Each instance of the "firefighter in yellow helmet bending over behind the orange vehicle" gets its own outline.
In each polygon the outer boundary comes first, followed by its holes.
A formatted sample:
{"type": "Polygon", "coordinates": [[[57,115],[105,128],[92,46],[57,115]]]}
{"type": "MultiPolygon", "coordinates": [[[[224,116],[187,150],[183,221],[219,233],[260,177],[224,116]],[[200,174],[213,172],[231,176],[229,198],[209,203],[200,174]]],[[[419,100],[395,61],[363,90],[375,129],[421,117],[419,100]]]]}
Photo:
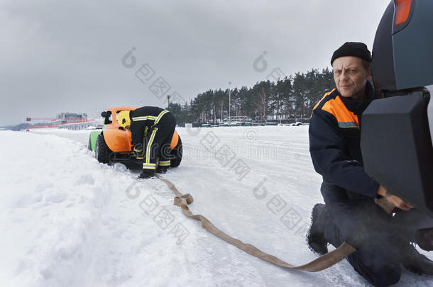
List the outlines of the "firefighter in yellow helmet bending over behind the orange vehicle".
{"type": "Polygon", "coordinates": [[[165,173],[170,167],[170,142],[176,127],[175,116],[163,108],[143,106],[133,111],[121,111],[117,121],[131,130],[133,153],[137,159],[143,159],[143,171],[138,178],[153,177],[155,171],[165,173]]]}

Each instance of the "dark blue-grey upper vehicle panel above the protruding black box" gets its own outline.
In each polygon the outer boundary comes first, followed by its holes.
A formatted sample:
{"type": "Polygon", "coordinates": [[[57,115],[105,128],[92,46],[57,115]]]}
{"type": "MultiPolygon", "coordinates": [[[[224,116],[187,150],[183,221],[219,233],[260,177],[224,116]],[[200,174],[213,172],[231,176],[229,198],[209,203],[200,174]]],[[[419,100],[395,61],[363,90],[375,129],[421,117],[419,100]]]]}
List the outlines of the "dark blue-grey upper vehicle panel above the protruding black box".
{"type": "Polygon", "coordinates": [[[375,88],[395,91],[433,84],[433,1],[411,0],[407,20],[395,25],[396,2],[380,20],[371,71],[375,88]]]}

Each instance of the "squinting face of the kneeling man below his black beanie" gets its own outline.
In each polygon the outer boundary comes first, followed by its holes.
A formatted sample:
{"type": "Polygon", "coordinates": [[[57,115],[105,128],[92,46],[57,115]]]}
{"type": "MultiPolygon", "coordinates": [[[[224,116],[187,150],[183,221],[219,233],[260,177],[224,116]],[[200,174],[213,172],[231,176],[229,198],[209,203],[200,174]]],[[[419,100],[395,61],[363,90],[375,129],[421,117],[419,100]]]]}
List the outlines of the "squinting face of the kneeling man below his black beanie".
{"type": "MultiPolygon", "coordinates": [[[[336,89],[341,96],[349,98],[363,91],[366,82],[371,78],[370,70],[363,67],[359,57],[339,57],[332,63],[336,89]]],[[[363,95],[361,95],[363,96],[363,95]]]]}

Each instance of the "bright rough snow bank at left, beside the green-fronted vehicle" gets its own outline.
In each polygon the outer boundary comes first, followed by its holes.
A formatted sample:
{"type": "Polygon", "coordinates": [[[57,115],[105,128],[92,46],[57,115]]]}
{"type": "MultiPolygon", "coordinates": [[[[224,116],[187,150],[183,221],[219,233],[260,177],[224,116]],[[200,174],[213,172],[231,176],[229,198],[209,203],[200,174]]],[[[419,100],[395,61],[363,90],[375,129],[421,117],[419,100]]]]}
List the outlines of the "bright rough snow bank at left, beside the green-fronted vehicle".
{"type": "Polygon", "coordinates": [[[0,137],[7,151],[0,162],[2,285],[82,285],[114,171],[78,142],[10,131],[0,137]]]}

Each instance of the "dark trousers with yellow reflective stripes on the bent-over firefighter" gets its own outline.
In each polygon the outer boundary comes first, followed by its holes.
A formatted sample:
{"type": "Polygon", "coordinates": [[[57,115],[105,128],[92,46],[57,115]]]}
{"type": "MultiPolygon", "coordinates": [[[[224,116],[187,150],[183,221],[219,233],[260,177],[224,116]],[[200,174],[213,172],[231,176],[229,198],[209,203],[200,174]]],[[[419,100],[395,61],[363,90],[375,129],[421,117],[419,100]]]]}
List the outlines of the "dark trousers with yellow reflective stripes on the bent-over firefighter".
{"type": "Polygon", "coordinates": [[[155,172],[158,157],[160,167],[170,167],[170,142],[175,128],[175,116],[165,113],[159,122],[148,130],[144,140],[143,171],[155,172]]]}

